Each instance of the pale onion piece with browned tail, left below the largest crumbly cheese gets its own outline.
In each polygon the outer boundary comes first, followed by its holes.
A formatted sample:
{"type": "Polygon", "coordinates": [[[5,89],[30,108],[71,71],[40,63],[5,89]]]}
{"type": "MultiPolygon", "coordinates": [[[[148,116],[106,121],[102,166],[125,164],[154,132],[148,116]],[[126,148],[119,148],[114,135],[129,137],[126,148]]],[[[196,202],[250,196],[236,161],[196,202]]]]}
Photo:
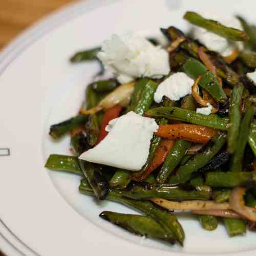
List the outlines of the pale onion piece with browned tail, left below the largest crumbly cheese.
{"type": "Polygon", "coordinates": [[[127,106],[131,101],[131,97],[134,91],[135,82],[124,83],[117,87],[113,92],[106,95],[95,108],[90,110],[80,110],[81,114],[89,115],[95,114],[102,109],[110,109],[115,105],[127,106]]]}

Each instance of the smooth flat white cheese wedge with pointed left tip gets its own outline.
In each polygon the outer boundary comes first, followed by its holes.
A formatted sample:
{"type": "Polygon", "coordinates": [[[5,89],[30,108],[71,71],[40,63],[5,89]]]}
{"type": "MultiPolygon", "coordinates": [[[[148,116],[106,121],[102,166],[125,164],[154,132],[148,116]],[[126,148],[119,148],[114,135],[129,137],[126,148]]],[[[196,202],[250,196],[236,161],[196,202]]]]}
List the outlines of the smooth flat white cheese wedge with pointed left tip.
{"type": "Polygon", "coordinates": [[[79,158],[127,170],[140,170],[150,152],[150,142],[158,130],[155,119],[129,112],[109,122],[109,134],[79,158]]]}

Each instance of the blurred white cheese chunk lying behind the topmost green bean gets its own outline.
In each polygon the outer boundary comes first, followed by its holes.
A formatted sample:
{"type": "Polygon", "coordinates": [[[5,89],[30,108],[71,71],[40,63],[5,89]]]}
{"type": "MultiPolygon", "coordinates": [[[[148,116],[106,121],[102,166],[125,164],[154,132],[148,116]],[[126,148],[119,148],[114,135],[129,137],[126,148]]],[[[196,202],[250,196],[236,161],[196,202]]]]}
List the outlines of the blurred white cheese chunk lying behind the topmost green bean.
{"type": "MultiPolygon", "coordinates": [[[[235,17],[218,17],[215,14],[202,13],[200,14],[204,18],[217,20],[219,23],[226,27],[231,27],[239,30],[243,30],[240,21],[235,17]]],[[[216,51],[222,56],[229,56],[234,49],[243,50],[243,42],[229,41],[228,39],[211,33],[203,28],[193,26],[193,37],[205,45],[209,50],[216,51]]]]}

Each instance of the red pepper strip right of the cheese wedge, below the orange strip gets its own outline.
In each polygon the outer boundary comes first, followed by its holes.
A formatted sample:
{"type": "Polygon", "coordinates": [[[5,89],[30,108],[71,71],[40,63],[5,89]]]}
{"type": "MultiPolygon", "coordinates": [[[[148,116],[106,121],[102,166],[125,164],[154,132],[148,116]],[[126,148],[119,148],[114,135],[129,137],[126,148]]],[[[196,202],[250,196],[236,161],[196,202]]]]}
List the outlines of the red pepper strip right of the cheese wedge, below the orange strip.
{"type": "Polygon", "coordinates": [[[162,139],[160,141],[159,146],[157,147],[155,157],[151,165],[147,168],[146,172],[142,176],[133,177],[132,179],[135,181],[141,181],[146,179],[148,175],[154,172],[154,170],[164,162],[166,156],[169,154],[173,145],[174,145],[174,140],[162,139]]]}

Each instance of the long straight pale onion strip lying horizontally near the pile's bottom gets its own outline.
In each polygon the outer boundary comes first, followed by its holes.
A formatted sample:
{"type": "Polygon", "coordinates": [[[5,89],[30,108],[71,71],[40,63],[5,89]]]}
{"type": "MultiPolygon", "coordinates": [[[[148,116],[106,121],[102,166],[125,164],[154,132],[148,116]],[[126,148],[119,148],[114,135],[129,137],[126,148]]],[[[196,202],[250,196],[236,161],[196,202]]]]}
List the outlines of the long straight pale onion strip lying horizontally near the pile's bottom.
{"type": "Polygon", "coordinates": [[[183,202],[174,202],[162,198],[152,198],[152,202],[168,210],[227,210],[228,203],[216,203],[214,201],[191,200],[183,202]]]}

